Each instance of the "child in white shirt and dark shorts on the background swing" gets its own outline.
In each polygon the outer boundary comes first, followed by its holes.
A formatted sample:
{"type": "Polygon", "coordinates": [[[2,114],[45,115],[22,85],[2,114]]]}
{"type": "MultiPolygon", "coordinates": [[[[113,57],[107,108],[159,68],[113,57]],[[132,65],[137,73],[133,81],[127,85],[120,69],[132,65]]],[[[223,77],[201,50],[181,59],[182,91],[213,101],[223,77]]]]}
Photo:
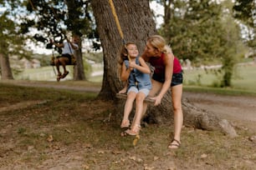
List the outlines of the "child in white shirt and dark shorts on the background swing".
{"type": "Polygon", "coordinates": [[[66,38],[67,42],[63,43],[56,43],[51,40],[51,43],[54,44],[56,47],[63,47],[62,54],[59,57],[56,57],[54,60],[54,64],[57,68],[57,81],[59,82],[60,78],[64,78],[69,74],[69,71],[66,70],[66,65],[71,64],[72,57],[71,55],[74,54],[74,50],[79,49],[79,36],[74,35],[72,36],[72,40],[70,41],[69,38],[66,38]],[[64,69],[64,73],[62,74],[59,70],[59,66],[62,65],[64,69]]]}

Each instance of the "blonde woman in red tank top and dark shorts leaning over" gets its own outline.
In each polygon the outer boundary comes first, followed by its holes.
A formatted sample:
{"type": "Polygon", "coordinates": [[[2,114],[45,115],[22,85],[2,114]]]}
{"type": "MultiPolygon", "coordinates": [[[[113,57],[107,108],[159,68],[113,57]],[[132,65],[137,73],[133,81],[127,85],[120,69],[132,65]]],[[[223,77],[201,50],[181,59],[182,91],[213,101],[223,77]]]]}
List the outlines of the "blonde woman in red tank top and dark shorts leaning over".
{"type": "MultiPolygon", "coordinates": [[[[174,57],[172,54],[171,47],[168,47],[164,38],[158,35],[147,39],[142,57],[154,67],[151,80],[152,89],[149,96],[155,100],[155,106],[161,104],[161,98],[171,87],[174,112],[174,138],[168,148],[179,148],[181,145],[183,123],[182,66],[177,57],[174,57]]],[[[144,102],[144,113],[146,112],[146,107],[147,104],[144,102]]]]}

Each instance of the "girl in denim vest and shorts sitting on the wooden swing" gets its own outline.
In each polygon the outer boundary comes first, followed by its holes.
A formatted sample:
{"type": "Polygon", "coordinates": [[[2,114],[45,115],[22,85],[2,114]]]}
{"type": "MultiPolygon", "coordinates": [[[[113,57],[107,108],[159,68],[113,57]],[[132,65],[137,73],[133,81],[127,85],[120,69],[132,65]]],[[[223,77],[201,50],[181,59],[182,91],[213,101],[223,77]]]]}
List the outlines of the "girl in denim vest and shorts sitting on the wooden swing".
{"type": "MultiPolygon", "coordinates": [[[[124,117],[120,128],[128,128],[130,126],[129,115],[133,102],[136,100],[136,113],[131,129],[125,131],[129,135],[137,135],[140,132],[143,101],[151,90],[150,67],[138,55],[136,44],[132,42],[126,43],[120,52],[120,80],[128,83],[124,117]]],[[[123,91],[125,91],[125,88],[123,91]]]]}

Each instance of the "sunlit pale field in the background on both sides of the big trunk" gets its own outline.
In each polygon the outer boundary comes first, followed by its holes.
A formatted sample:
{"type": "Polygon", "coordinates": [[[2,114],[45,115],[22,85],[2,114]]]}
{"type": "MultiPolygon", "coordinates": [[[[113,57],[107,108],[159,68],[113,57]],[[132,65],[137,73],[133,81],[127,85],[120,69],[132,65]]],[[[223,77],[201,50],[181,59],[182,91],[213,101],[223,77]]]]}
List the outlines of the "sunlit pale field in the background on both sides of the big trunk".
{"type": "MultiPolygon", "coordinates": [[[[72,80],[73,67],[68,66],[69,75],[65,80],[72,80]]],[[[214,70],[207,70],[207,73],[203,69],[184,70],[184,85],[186,87],[215,87],[214,84],[219,83],[221,77],[216,76],[213,73],[214,70]]],[[[100,65],[93,67],[92,72],[103,72],[103,68],[100,65]]],[[[90,76],[87,74],[87,78],[90,82],[101,82],[102,75],[90,76]]],[[[256,64],[243,65],[236,67],[233,80],[232,89],[248,92],[256,92],[256,64]]],[[[24,72],[16,75],[16,80],[38,80],[38,81],[55,81],[55,73],[53,67],[41,67],[26,69],[24,72]]]]}

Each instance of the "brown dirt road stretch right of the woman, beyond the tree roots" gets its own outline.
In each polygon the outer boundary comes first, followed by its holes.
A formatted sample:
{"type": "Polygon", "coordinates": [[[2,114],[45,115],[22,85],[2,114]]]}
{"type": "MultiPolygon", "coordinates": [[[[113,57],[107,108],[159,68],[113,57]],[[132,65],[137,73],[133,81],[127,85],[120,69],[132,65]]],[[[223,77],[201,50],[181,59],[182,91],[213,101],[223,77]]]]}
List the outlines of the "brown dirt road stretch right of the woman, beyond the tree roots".
{"type": "Polygon", "coordinates": [[[223,96],[199,92],[184,92],[183,97],[187,97],[195,106],[227,119],[235,127],[256,131],[256,97],[223,96]]]}

